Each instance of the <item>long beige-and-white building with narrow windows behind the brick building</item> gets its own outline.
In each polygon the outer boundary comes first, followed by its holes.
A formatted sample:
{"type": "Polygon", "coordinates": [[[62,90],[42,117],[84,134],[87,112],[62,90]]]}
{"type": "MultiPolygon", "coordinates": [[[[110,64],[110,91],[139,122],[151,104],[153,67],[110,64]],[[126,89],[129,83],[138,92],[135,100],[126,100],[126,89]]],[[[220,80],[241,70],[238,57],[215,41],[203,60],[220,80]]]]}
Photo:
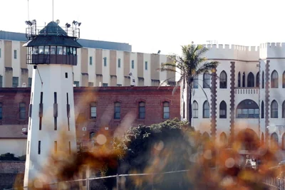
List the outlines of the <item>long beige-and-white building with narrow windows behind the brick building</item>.
{"type": "MultiPolygon", "coordinates": [[[[31,87],[33,72],[31,65],[26,65],[25,42],[25,33],[0,31],[0,88],[22,87],[23,83],[31,87]]],[[[170,85],[175,84],[174,73],[157,71],[167,61],[166,55],[132,52],[128,43],[78,42],[83,48],[78,50],[78,64],[73,68],[76,86],[130,86],[129,73],[136,86],[158,86],[166,78],[172,78],[170,85]]]]}

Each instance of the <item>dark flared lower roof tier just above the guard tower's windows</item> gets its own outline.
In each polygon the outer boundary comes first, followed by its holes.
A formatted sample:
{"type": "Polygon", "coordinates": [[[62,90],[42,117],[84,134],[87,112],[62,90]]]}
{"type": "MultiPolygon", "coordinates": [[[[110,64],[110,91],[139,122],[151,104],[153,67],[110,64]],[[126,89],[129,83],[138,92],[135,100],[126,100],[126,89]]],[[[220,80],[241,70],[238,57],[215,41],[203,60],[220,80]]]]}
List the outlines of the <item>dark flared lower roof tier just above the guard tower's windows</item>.
{"type": "Polygon", "coordinates": [[[24,44],[26,47],[32,46],[70,46],[81,48],[81,44],[68,36],[36,36],[33,40],[24,44]]]}

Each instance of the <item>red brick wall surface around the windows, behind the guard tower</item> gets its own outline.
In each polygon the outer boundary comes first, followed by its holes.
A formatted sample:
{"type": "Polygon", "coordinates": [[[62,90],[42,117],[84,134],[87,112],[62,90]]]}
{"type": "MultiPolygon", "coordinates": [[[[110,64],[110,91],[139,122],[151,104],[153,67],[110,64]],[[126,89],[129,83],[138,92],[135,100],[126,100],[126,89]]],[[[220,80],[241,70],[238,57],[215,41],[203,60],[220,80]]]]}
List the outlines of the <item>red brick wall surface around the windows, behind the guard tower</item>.
{"type": "MultiPolygon", "coordinates": [[[[151,125],[164,121],[163,102],[170,103],[170,119],[180,118],[180,89],[173,87],[101,87],[74,88],[76,127],[78,135],[88,136],[100,127],[115,130],[134,125],[151,125]],[[96,103],[96,119],[90,118],[90,102],[96,103]],[[120,102],[120,119],[114,119],[114,103],[120,102]],[[145,119],[138,119],[139,102],[145,102],[145,119]],[[86,127],[83,132],[82,127],[86,127]]],[[[28,125],[30,88],[1,88],[3,116],[0,125],[28,125]],[[26,103],[26,120],[19,119],[19,103],[26,103]]],[[[1,127],[1,126],[0,126],[1,127]]],[[[80,137],[81,138],[81,137],[80,137]]]]}

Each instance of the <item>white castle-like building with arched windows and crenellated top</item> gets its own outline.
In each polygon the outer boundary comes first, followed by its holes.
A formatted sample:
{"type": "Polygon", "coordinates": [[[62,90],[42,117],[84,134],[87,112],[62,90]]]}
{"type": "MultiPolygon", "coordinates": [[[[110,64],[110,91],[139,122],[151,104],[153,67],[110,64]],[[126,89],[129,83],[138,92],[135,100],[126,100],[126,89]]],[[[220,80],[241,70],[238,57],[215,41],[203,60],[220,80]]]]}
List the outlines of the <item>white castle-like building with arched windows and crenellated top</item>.
{"type": "MultiPolygon", "coordinates": [[[[219,65],[217,77],[204,74],[196,79],[207,97],[195,86],[192,125],[222,142],[250,129],[261,142],[275,139],[285,149],[285,43],[205,46],[209,51],[204,56],[219,65]]],[[[186,90],[182,85],[182,120],[188,119],[186,90]]]]}

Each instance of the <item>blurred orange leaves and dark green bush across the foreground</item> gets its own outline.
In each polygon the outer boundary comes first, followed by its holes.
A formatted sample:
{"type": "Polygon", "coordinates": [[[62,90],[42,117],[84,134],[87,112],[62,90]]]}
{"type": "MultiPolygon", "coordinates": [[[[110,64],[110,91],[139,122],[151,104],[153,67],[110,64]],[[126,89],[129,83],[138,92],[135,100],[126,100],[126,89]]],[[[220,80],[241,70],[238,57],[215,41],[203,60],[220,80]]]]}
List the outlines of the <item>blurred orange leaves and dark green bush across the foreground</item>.
{"type": "MultiPolygon", "coordinates": [[[[266,189],[267,176],[280,174],[276,154],[261,144],[250,130],[242,130],[229,144],[217,143],[177,119],[160,124],[131,127],[123,137],[113,137],[105,130],[96,134],[96,146],[88,152],[51,154],[43,170],[41,189],[53,189],[51,182],[84,179],[89,167],[91,177],[116,174],[151,174],[122,176],[120,189],[266,189]],[[245,155],[248,155],[247,157],[245,155]],[[252,166],[254,160],[257,166],[252,166]],[[166,171],[180,171],[157,174],[166,171]]],[[[63,135],[63,140],[65,139],[63,135]]],[[[38,179],[31,186],[38,185],[38,179]]],[[[116,178],[90,181],[90,189],[115,189],[116,178]]],[[[61,189],[82,189],[85,182],[60,183],[61,189]]],[[[16,183],[20,188],[22,184],[16,183]]],[[[33,189],[33,188],[31,188],[33,189]]]]}

